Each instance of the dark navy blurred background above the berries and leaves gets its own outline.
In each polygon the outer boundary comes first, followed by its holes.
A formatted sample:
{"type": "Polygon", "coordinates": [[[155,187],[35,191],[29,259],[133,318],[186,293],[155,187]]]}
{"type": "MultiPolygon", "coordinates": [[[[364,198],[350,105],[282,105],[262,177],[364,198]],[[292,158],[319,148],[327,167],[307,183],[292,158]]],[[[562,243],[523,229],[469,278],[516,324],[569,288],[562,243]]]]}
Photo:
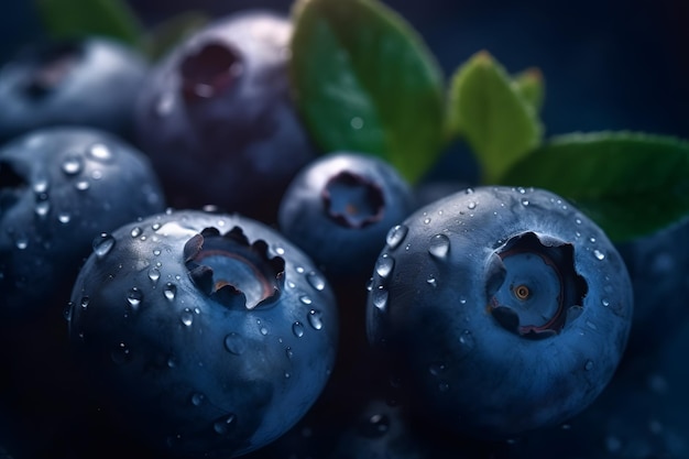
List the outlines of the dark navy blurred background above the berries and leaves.
{"type": "MultiPolygon", "coordinates": [[[[188,9],[287,12],[289,0],[129,0],[146,24],[188,9]]],[[[689,2],[681,0],[387,0],[449,77],[480,50],[546,79],[546,134],[630,129],[689,138],[689,2]]],[[[0,57],[41,35],[32,2],[0,15],[0,57]]],[[[9,11],[8,11],[9,10],[9,11]]],[[[356,25],[353,25],[356,26],[356,25]]]]}

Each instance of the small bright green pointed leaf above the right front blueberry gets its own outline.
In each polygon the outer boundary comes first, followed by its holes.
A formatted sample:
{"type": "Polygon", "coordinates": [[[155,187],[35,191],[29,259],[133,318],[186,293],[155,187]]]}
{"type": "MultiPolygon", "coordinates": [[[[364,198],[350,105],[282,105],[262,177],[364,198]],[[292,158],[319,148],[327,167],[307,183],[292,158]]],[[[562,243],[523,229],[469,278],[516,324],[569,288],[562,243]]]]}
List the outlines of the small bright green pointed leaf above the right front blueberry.
{"type": "Polygon", "coordinates": [[[485,51],[455,73],[449,111],[450,125],[473,150],[485,184],[497,183],[542,139],[536,110],[485,51]]]}

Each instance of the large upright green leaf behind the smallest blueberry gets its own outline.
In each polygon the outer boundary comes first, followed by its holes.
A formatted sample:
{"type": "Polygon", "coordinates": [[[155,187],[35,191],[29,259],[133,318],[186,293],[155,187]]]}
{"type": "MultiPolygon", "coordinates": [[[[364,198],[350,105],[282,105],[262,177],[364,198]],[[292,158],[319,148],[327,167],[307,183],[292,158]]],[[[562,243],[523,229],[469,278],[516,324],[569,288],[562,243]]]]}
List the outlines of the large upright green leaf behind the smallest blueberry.
{"type": "Polygon", "coordinates": [[[444,77],[420,36],[375,0],[298,0],[293,19],[292,85],[317,145],[419,179],[446,141],[444,77]]]}

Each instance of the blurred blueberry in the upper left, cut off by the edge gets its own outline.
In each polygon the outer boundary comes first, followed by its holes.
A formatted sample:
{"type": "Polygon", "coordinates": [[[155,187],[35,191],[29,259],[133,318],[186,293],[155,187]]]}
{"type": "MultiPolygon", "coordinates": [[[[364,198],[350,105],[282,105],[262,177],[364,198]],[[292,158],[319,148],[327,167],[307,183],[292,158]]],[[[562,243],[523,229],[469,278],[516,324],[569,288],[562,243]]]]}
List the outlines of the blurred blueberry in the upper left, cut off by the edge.
{"type": "Polygon", "coordinates": [[[0,142],[54,125],[86,125],[132,139],[136,95],[149,70],[108,39],[42,42],[0,70],[0,142]]]}

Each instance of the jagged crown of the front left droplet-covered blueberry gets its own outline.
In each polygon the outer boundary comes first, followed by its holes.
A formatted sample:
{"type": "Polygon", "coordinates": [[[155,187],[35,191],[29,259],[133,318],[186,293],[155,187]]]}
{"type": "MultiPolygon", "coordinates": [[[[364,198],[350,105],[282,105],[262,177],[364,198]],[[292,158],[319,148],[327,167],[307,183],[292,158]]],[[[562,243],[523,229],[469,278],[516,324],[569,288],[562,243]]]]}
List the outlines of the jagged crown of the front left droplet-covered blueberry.
{"type": "Polygon", "coordinates": [[[194,284],[229,308],[274,304],[283,289],[284,259],[270,258],[261,239],[249,243],[240,227],[204,229],[185,243],[184,260],[194,284]]]}

